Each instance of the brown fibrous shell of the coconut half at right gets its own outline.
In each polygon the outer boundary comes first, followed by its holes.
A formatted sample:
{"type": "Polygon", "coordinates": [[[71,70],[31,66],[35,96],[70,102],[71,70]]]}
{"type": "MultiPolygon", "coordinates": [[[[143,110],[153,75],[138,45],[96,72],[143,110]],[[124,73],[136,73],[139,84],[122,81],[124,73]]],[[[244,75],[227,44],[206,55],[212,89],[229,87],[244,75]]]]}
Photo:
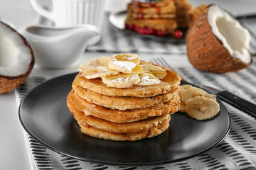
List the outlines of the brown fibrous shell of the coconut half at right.
{"type": "Polygon", "coordinates": [[[248,67],[250,64],[232,57],[214,35],[207,15],[212,5],[207,6],[188,29],[186,47],[189,62],[197,69],[214,73],[234,72],[248,67]]]}

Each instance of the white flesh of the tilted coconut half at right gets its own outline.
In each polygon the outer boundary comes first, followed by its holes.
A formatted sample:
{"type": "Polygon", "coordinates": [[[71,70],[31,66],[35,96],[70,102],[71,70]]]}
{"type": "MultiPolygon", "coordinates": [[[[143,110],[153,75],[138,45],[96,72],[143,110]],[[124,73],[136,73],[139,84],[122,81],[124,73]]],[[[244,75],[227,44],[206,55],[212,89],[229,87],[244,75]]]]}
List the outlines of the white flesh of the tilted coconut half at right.
{"type": "Polygon", "coordinates": [[[210,6],[207,17],[214,35],[223,43],[230,55],[249,64],[251,62],[249,31],[218,6],[210,6]]]}

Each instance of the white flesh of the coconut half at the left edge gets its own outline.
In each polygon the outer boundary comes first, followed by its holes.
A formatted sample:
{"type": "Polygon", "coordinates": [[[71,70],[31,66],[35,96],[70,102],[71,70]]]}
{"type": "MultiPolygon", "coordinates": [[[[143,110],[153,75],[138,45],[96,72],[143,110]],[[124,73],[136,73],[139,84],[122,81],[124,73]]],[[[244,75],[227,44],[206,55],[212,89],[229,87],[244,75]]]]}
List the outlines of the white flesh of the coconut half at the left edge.
{"type": "Polygon", "coordinates": [[[0,23],[0,74],[18,76],[28,70],[31,53],[21,37],[0,23]]]}

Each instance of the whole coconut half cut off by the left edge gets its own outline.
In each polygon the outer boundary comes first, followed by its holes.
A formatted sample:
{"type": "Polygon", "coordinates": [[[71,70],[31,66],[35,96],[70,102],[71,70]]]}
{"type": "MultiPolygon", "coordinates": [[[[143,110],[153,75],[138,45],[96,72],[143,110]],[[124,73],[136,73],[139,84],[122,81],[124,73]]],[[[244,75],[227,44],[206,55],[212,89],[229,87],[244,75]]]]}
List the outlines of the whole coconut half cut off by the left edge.
{"type": "Polygon", "coordinates": [[[0,94],[26,80],[35,62],[31,46],[14,28],[0,21],[0,94]]]}

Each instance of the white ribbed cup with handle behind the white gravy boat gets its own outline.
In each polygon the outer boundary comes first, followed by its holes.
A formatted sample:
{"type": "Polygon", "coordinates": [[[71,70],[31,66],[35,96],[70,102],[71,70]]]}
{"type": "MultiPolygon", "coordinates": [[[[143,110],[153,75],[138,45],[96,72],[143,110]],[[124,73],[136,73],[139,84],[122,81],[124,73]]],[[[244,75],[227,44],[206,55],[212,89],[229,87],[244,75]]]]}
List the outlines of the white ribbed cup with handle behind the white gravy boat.
{"type": "MultiPolygon", "coordinates": [[[[102,21],[105,9],[105,0],[52,0],[52,11],[48,11],[38,0],[30,0],[33,8],[55,24],[55,26],[75,26],[91,24],[99,30],[102,29],[102,21]]],[[[100,35],[92,38],[88,45],[100,41],[100,35]]]]}

